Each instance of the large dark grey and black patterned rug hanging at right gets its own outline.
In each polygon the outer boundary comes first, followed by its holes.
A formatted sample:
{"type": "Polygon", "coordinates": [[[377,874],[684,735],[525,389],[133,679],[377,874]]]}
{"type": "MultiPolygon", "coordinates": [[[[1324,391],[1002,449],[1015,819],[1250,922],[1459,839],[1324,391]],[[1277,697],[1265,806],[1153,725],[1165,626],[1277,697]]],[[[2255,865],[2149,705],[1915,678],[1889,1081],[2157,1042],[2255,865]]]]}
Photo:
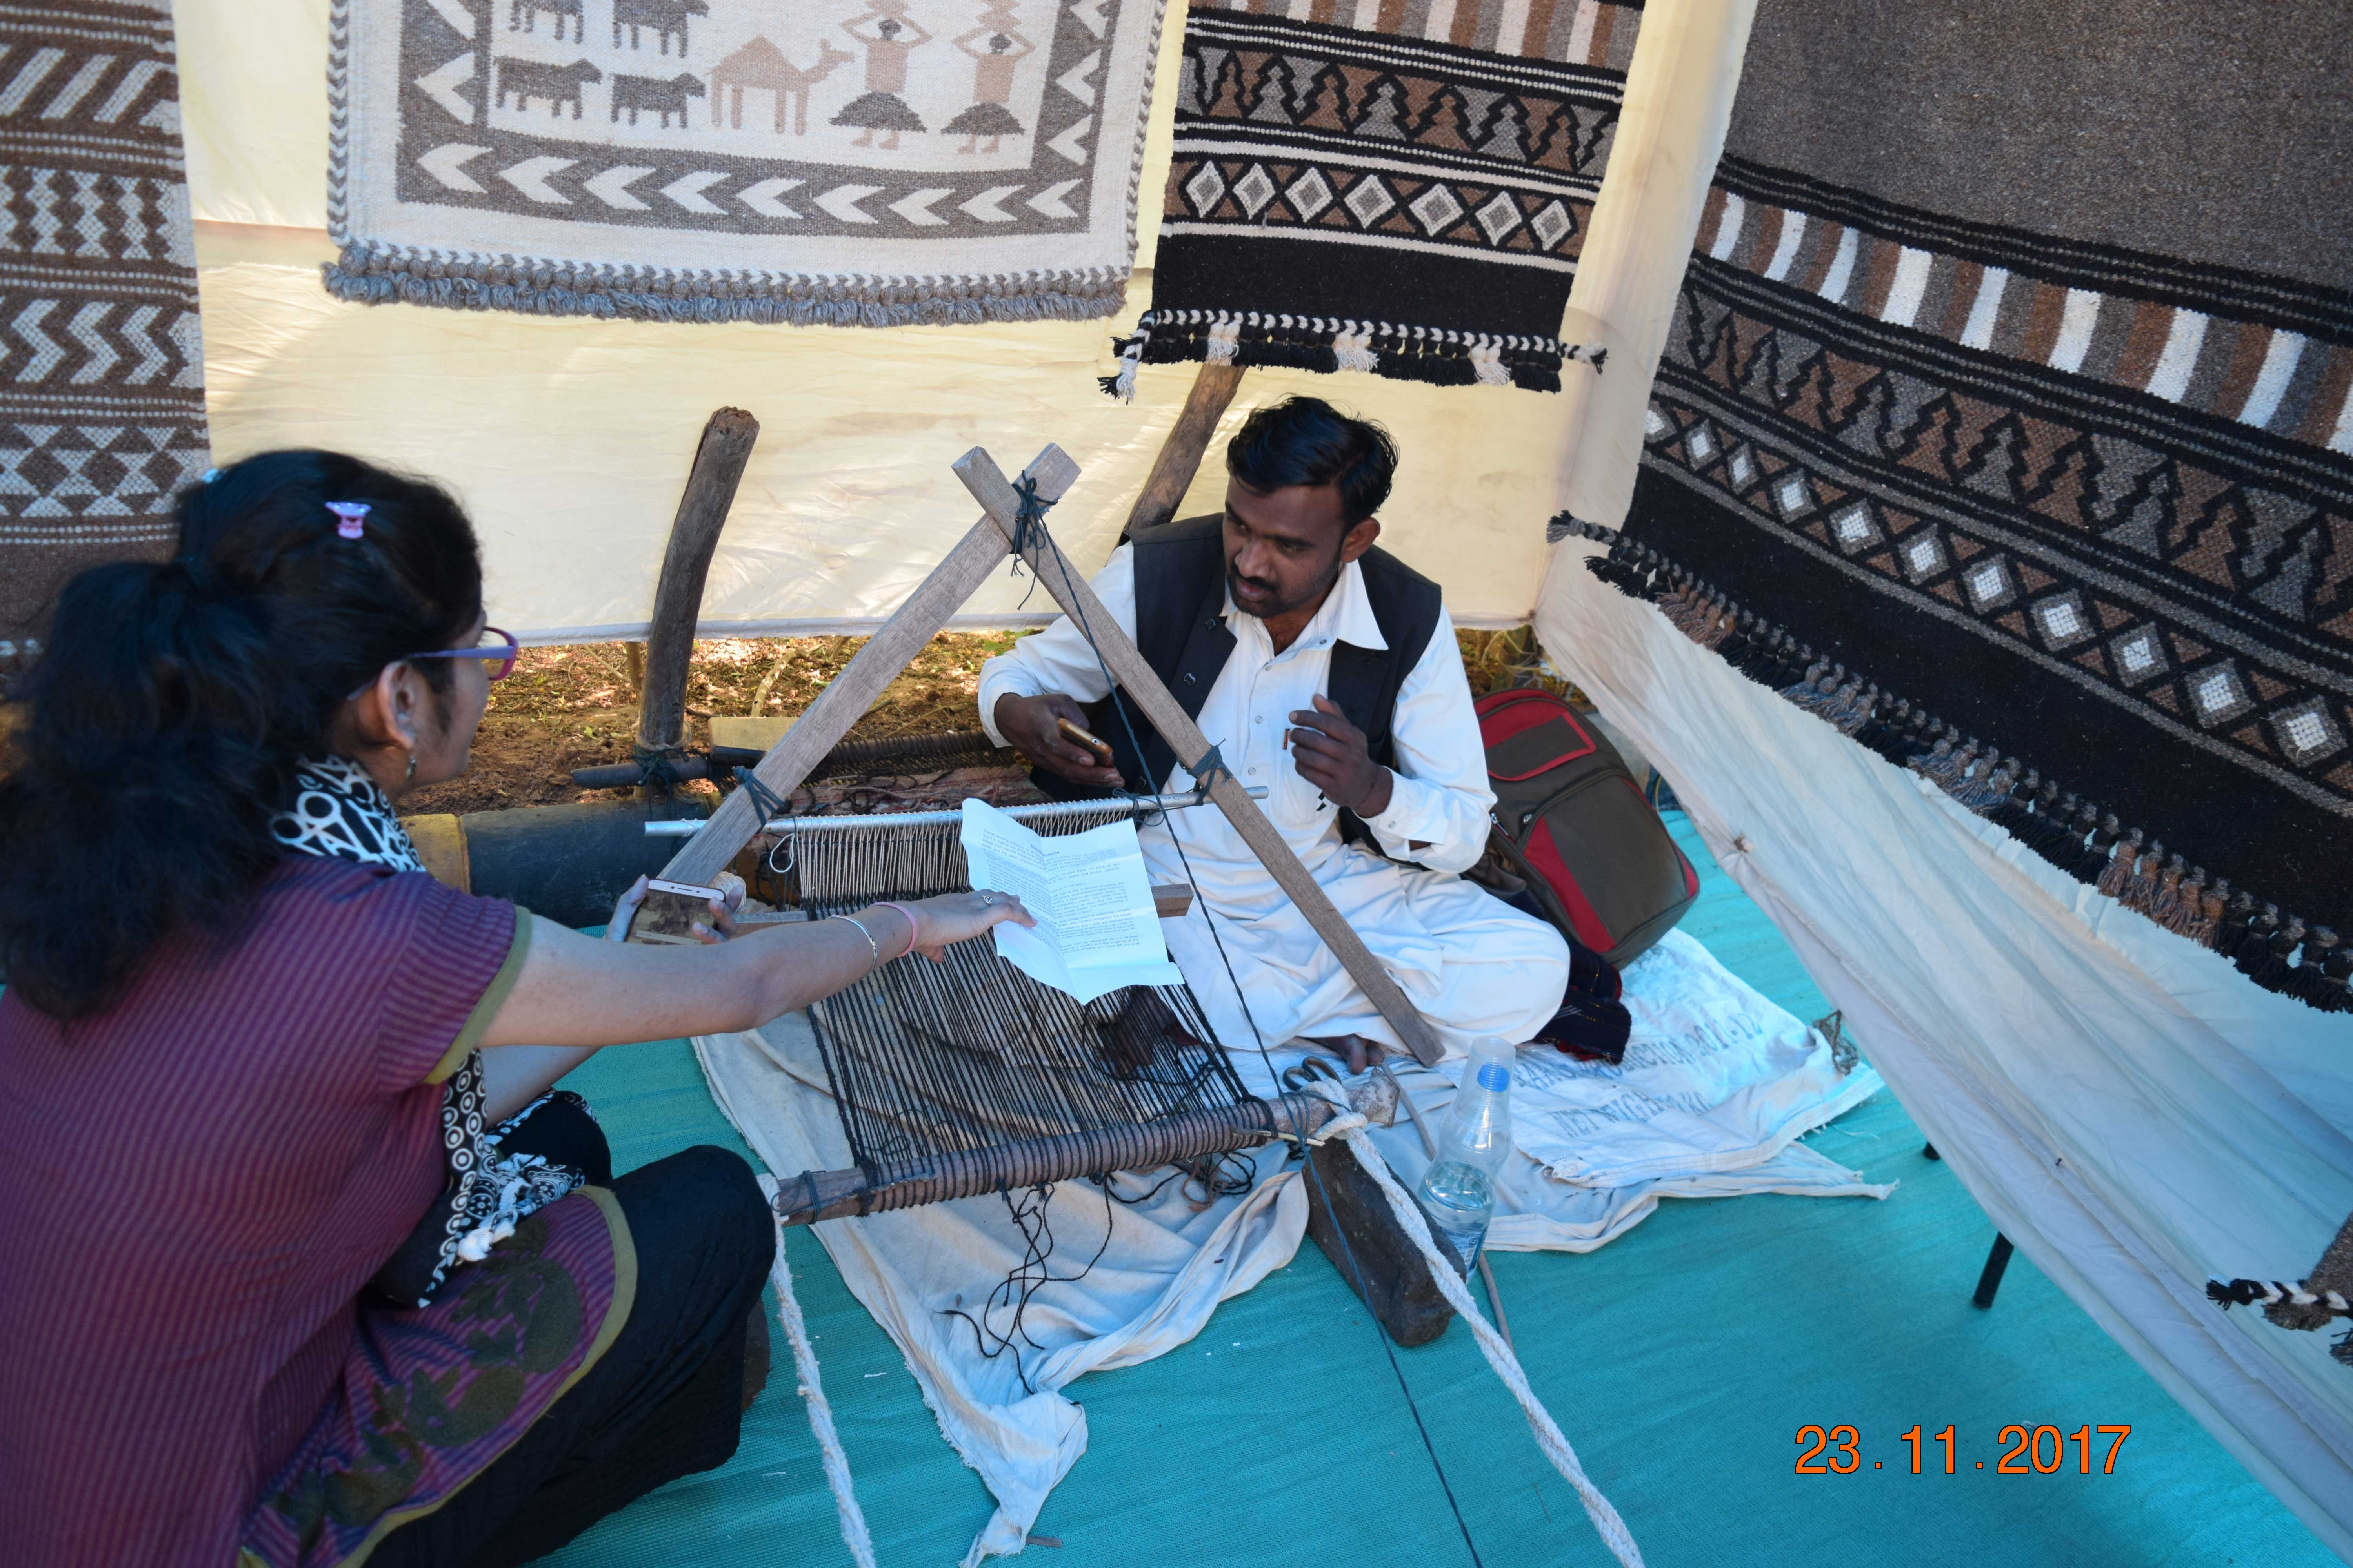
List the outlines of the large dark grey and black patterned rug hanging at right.
{"type": "Polygon", "coordinates": [[[1605,574],[2341,1006],[2353,47],[2233,16],[1760,5],[1605,574]]]}

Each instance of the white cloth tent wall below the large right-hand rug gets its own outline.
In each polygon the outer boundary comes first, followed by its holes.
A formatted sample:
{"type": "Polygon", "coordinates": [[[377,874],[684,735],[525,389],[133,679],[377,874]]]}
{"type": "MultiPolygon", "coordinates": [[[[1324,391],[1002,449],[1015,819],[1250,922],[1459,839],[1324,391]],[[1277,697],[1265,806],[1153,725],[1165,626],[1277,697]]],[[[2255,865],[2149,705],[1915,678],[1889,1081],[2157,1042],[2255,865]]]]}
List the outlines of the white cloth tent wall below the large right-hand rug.
{"type": "Polygon", "coordinates": [[[2353,1368],[2221,1312],[2353,1211],[2344,1018],[2024,851],[1558,552],[1537,630],[1675,785],[1951,1168],[2334,1552],[2353,1368]]]}

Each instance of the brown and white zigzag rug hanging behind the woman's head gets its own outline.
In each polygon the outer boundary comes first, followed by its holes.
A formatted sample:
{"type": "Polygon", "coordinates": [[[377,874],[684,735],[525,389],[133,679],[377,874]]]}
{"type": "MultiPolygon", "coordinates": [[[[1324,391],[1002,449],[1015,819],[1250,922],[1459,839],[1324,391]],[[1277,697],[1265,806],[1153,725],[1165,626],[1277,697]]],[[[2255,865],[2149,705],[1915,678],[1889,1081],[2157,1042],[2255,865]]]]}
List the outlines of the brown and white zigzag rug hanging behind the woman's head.
{"type": "Polygon", "coordinates": [[[205,473],[167,0],[0,7],[0,677],[56,590],[172,550],[205,473]]]}

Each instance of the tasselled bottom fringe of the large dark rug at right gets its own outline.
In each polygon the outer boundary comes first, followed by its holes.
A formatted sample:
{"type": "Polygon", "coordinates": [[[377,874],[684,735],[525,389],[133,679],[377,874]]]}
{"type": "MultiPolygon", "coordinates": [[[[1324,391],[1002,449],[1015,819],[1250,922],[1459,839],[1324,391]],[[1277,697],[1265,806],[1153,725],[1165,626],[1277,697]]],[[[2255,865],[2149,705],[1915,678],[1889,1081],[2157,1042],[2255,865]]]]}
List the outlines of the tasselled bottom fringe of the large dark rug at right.
{"type": "Polygon", "coordinates": [[[1927,708],[1880,691],[1878,682],[1866,682],[1847,665],[1819,658],[1812,644],[1741,609],[1659,550],[1560,512],[1546,524],[1546,543],[1565,538],[1607,543],[1605,555],[1586,557],[1586,571],[1595,578],[1631,599],[1657,604],[1678,632],[1744,677],[1774,689],[1889,764],[1932,780],[2078,882],[2224,954],[2264,990],[2322,1013],[2353,1013],[2353,943],[2344,943],[2329,926],[2306,926],[2301,917],[2280,914],[2278,905],[2259,903],[2245,889],[2231,893],[2226,877],[2209,882],[2205,867],[2167,856],[2160,842],[2139,827],[2127,830],[2113,811],[2099,811],[2057,778],[2045,780],[2019,757],[2002,757],[1998,748],[1965,736],[1927,708]]]}

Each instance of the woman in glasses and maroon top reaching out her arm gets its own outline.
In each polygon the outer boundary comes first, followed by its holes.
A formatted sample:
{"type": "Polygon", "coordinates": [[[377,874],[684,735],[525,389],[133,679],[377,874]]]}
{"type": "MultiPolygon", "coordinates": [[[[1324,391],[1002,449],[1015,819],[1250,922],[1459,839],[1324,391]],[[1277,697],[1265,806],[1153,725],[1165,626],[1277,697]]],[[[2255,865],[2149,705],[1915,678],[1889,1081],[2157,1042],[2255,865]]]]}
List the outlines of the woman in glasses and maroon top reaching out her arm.
{"type": "Polygon", "coordinates": [[[275,451],[179,527],[0,724],[5,1556],[529,1561],[734,1453],[774,1253],[736,1154],[614,1178],[555,1079],[1028,917],[642,947],[445,889],[395,804],[515,661],[466,515],[275,451]]]}

